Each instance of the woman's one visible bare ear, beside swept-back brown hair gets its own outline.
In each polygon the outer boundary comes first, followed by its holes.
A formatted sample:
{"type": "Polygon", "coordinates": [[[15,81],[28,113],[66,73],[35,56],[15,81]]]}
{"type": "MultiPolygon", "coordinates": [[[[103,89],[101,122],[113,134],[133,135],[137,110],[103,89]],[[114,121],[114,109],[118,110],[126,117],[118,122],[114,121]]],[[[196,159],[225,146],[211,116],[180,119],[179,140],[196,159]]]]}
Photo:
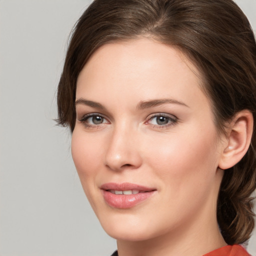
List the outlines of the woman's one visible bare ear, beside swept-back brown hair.
{"type": "Polygon", "coordinates": [[[228,124],[228,132],[218,164],[220,169],[228,169],[241,160],[249,148],[252,130],[253,116],[249,110],[235,114],[228,124]]]}

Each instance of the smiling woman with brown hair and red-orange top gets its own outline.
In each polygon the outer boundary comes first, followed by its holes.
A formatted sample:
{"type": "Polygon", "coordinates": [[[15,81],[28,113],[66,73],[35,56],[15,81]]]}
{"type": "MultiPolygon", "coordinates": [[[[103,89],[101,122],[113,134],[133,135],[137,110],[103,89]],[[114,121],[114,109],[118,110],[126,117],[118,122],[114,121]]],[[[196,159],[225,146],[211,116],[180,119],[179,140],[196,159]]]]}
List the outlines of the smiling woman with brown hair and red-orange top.
{"type": "Polygon", "coordinates": [[[248,255],[255,59],[231,0],[94,0],[82,14],[58,122],[119,256],[248,255]]]}

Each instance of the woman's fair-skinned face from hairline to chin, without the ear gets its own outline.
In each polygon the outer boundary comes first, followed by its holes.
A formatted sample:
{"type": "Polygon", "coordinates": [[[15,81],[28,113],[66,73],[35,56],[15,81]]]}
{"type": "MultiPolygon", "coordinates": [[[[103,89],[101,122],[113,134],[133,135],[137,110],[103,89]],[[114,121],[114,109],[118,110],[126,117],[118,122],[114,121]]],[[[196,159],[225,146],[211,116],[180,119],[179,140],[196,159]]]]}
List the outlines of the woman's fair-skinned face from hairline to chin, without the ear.
{"type": "Polygon", "coordinates": [[[101,46],[76,89],[72,157],[105,231],[145,240],[215,219],[222,172],[196,67],[149,39],[101,46]]]}

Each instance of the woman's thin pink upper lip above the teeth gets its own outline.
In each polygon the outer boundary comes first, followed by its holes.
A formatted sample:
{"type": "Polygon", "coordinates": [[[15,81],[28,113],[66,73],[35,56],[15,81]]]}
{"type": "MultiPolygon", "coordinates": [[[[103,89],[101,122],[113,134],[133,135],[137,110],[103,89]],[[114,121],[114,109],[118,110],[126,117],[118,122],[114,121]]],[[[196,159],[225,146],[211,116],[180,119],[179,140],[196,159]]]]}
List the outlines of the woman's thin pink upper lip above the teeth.
{"type": "Polygon", "coordinates": [[[100,186],[100,189],[103,190],[119,190],[119,191],[125,191],[125,190],[140,190],[140,191],[152,191],[156,190],[155,188],[152,187],[146,187],[143,185],[138,185],[138,184],[133,184],[129,182],[124,182],[124,183],[105,183],[100,186]]]}

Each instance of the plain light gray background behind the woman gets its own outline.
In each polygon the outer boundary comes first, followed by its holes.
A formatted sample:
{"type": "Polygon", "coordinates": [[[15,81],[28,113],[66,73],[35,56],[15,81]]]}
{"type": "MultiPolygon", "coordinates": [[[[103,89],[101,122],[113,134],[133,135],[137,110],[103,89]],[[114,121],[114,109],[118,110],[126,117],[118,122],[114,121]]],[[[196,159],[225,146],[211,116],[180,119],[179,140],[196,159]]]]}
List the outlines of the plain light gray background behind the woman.
{"type": "MultiPolygon", "coordinates": [[[[56,127],[68,33],[88,0],[0,0],[0,256],[110,255],[56,127]]],[[[237,0],[256,29],[256,0],[237,0]]],[[[256,255],[256,234],[249,252],[256,255]]]]}

